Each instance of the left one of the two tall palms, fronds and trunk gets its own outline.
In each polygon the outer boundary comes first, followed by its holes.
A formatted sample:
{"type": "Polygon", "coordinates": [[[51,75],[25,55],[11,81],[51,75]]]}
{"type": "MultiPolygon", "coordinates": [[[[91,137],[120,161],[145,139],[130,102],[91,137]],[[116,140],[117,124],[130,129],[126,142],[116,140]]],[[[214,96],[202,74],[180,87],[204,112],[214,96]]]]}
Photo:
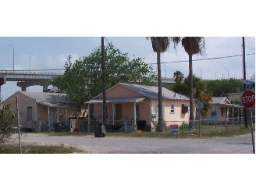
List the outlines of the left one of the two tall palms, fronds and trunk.
{"type": "MultiPolygon", "coordinates": [[[[148,39],[148,37],[147,37],[148,39]]],[[[162,75],[161,75],[161,53],[165,52],[169,47],[170,41],[176,44],[180,42],[180,37],[150,37],[153,51],[157,54],[158,63],[158,131],[164,130],[163,116],[162,116],[162,75]]]]}

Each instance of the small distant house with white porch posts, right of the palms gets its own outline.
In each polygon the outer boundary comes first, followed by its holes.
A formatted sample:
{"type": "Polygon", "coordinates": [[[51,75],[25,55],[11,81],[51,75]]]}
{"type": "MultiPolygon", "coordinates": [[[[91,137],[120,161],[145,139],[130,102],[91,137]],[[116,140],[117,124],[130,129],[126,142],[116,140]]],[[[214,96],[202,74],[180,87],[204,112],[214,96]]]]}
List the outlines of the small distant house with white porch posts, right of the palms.
{"type": "MultiPolygon", "coordinates": [[[[208,111],[208,116],[201,116],[202,123],[220,123],[227,121],[233,122],[233,120],[235,119],[233,115],[234,108],[239,109],[243,108],[243,106],[231,104],[229,99],[226,97],[212,97],[212,109],[208,111]],[[229,116],[232,116],[233,119],[229,119],[229,116]]],[[[240,110],[240,112],[242,112],[242,110],[240,110]]],[[[240,112],[238,112],[238,119],[242,116],[240,115],[240,112]]]]}

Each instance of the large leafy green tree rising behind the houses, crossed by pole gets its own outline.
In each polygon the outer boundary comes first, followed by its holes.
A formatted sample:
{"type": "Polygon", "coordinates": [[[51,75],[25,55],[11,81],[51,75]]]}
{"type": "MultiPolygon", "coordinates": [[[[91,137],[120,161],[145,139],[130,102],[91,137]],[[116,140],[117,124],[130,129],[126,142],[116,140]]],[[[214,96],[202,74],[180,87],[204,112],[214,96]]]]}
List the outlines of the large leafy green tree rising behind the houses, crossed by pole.
{"type": "MultiPolygon", "coordinates": [[[[105,87],[122,83],[155,85],[156,75],[152,66],[141,58],[130,59],[112,43],[105,46],[105,87]]],[[[53,80],[62,87],[70,101],[82,104],[102,92],[101,46],[87,57],[76,60],[66,70],[62,79],[53,80]]]]}

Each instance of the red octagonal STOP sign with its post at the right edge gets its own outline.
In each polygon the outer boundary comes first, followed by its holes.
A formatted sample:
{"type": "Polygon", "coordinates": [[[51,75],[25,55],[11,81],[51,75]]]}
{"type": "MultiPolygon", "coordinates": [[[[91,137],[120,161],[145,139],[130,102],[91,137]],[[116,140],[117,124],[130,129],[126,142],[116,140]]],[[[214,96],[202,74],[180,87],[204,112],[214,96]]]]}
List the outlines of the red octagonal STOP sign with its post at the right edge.
{"type": "Polygon", "coordinates": [[[252,140],[252,148],[255,154],[255,143],[254,143],[254,130],[253,130],[253,123],[252,123],[252,109],[255,105],[255,93],[252,90],[244,91],[241,97],[241,102],[245,108],[250,108],[250,116],[251,116],[251,140],[252,140]]]}

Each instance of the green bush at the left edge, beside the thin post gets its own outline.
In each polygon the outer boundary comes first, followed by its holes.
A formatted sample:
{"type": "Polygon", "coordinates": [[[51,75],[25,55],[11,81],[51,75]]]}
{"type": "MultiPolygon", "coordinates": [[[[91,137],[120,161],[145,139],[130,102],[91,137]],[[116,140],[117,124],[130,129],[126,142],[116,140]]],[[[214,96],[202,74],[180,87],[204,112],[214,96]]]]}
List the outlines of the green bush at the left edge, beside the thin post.
{"type": "Polygon", "coordinates": [[[0,143],[9,140],[13,133],[13,126],[16,123],[16,115],[13,114],[11,105],[4,105],[0,108],[0,143]]]}

